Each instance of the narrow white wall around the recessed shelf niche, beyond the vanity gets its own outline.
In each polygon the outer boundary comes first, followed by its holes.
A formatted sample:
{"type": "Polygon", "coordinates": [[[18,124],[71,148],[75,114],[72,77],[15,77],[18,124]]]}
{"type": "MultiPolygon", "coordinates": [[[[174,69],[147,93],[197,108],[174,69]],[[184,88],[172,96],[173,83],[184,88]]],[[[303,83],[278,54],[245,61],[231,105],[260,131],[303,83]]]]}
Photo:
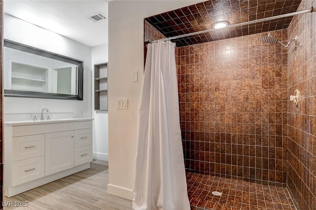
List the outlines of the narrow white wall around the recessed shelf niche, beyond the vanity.
{"type": "MultiPolygon", "coordinates": [[[[108,62],[109,45],[103,44],[92,47],[91,63],[92,70],[95,64],[108,62]]],[[[93,74],[94,75],[94,72],[93,74]]],[[[92,78],[94,80],[94,78],[92,78]]],[[[94,96],[92,96],[94,98],[94,96]]],[[[94,101],[94,99],[93,99],[94,101]]],[[[93,104],[94,105],[94,104],[93,104]]],[[[94,109],[94,108],[93,108],[94,109]]],[[[108,131],[108,112],[93,111],[93,159],[109,160],[109,131],[108,131]]]]}

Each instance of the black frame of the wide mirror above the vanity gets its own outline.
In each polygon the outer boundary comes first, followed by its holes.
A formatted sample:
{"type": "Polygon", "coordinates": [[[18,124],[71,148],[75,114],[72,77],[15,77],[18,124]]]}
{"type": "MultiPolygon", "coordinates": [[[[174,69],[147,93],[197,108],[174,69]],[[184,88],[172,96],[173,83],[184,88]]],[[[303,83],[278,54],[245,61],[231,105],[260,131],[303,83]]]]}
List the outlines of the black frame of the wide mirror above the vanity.
{"type": "Polygon", "coordinates": [[[19,97],[19,98],[39,98],[39,99],[63,99],[63,100],[83,100],[83,61],[62,56],[56,53],[41,50],[32,46],[21,44],[15,41],[4,39],[4,47],[20,50],[23,52],[32,53],[46,58],[55,59],[58,61],[67,62],[78,65],[78,95],[57,94],[57,93],[43,93],[34,91],[19,91],[4,89],[5,97],[19,97]]]}

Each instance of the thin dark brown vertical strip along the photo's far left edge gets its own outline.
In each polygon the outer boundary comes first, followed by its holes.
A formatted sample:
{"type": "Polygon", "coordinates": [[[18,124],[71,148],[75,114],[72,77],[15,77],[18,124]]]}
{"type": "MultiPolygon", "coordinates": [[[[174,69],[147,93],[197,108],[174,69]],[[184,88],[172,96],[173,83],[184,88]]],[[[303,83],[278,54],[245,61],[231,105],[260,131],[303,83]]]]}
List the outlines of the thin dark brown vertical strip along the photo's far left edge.
{"type": "MultiPolygon", "coordinates": [[[[3,52],[3,46],[2,46],[2,37],[3,37],[3,0],[0,0],[0,62],[2,64],[2,52],[3,52]]],[[[3,202],[3,108],[2,108],[2,102],[3,102],[3,88],[2,88],[2,65],[0,65],[0,210],[3,209],[2,202],[3,202]]]]}

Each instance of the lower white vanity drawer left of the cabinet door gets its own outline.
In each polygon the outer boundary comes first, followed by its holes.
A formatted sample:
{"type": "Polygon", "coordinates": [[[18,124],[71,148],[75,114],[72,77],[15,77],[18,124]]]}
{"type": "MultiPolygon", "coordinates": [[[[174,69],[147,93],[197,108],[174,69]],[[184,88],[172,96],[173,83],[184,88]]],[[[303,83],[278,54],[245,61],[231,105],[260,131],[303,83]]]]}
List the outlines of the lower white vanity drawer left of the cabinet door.
{"type": "Polygon", "coordinates": [[[32,181],[45,175],[44,156],[12,163],[12,186],[32,181]]]}

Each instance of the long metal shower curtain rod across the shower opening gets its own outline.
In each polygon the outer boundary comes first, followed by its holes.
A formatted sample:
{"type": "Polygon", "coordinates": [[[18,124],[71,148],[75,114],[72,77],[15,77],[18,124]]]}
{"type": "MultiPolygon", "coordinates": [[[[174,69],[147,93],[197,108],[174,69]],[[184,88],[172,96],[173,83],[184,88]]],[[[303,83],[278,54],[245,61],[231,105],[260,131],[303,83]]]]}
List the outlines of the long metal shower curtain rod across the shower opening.
{"type": "MultiPolygon", "coordinates": [[[[225,28],[221,28],[221,29],[243,26],[243,25],[247,25],[247,24],[258,23],[258,22],[263,22],[263,21],[267,21],[267,20],[274,20],[274,19],[278,19],[278,18],[289,17],[289,16],[294,16],[294,15],[299,15],[299,14],[303,14],[303,13],[307,13],[307,12],[314,12],[314,11],[316,11],[316,9],[314,9],[314,7],[312,6],[311,9],[306,9],[306,10],[297,11],[297,12],[291,12],[291,13],[282,14],[282,15],[276,15],[276,16],[262,18],[262,19],[258,19],[258,20],[252,20],[252,21],[248,21],[248,22],[244,22],[244,23],[237,23],[234,25],[226,26],[225,28]]],[[[219,29],[208,29],[208,30],[204,30],[204,31],[200,31],[200,32],[193,32],[190,34],[176,35],[176,36],[172,36],[172,37],[168,37],[168,38],[161,38],[161,39],[157,39],[154,41],[149,41],[149,43],[158,42],[158,41],[167,41],[167,40],[182,38],[182,37],[191,36],[191,35],[198,35],[198,34],[203,34],[203,33],[207,33],[207,32],[213,32],[216,30],[219,30],[219,29]]]]}

